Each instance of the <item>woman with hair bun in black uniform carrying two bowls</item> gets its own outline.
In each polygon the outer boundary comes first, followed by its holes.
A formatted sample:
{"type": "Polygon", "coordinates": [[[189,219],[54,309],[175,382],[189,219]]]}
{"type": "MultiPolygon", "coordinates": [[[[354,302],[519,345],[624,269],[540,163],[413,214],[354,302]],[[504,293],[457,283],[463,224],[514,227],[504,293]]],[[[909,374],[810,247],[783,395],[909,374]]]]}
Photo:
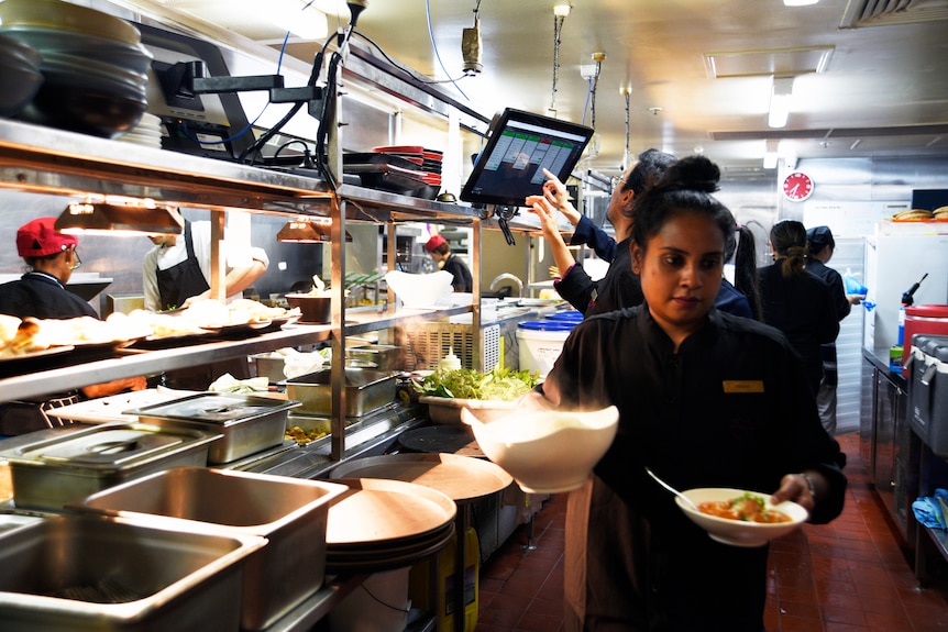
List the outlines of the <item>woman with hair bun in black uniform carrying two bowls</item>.
{"type": "Polygon", "coordinates": [[[646,302],[578,324],[532,402],[619,409],[567,505],[567,630],[763,630],[768,547],[713,541],[647,466],[679,489],[773,491],[814,523],[842,510],[845,455],[798,356],[778,330],[714,308],[735,234],[710,195],[719,177],[687,157],[646,193],[631,244],[646,302]]]}

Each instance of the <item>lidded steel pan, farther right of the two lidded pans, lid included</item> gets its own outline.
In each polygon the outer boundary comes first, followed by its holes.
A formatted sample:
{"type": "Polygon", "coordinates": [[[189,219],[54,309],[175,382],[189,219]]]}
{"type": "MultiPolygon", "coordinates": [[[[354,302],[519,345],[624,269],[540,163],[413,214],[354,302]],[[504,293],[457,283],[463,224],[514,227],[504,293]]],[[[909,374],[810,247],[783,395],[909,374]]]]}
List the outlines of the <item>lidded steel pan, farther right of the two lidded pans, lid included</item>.
{"type": "Polygon", "coordinates": [[[200,392],[180,399],[122,411],[139,421],[163,426],[217,432],[221,441],[208,463],[230,463],[283,443],[286,415],[298,401],[227,392],[200,392]]]}

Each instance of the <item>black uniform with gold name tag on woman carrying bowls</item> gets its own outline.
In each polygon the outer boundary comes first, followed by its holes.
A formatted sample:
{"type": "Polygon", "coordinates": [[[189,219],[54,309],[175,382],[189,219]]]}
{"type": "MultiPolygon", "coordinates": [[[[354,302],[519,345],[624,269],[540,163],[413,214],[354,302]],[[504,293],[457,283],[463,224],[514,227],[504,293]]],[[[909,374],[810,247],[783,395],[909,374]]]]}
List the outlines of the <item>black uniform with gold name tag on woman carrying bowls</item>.
{"type": "Polygon", "coordinates": [[[566,592],[581,583],[587,629],[761,632],[767,547],[710,540],[644,466],[679,489],[765,494],[784,474],[818,468],[831,492],[812,520],[838,515],[845,455],[780,332],[713,309],[673,353],[643,304],[578,324],[542,388],[564,409],[619,409],[589,505],[567,512],[566,592]],[[571,547],[585,564],[569,563],[571,547]]]}

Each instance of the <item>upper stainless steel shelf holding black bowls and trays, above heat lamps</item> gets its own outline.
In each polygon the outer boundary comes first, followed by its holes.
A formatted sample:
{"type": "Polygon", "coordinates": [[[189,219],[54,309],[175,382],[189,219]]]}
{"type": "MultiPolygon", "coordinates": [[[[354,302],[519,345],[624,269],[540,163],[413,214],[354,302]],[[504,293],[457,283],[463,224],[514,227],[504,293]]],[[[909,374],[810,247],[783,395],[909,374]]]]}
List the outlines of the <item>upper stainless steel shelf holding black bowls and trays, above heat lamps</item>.
{"type": "Polygon", "coordinates": [[[318,178],[5,120],[0,121],[0,187],[320,215],[329,215],[335,200],[344,198],[365,211],[350,218],[355,221],[388,221],[393,211],[462,222],[478,217],[459,204],[351,185],[334,193],[318,178]]]}

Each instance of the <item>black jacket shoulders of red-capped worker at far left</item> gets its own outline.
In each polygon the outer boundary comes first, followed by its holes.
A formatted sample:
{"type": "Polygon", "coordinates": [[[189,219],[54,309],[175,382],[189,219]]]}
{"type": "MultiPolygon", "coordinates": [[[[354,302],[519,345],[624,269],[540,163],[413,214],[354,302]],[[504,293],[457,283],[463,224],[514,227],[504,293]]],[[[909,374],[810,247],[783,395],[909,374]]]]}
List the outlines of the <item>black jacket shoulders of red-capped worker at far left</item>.
{"type": "Polygon", "coordinates": [[[88,301],[67,290],[59,279],[37,271],[0,286],[0,313],[19,319],[99,318],[88,301]]]}

